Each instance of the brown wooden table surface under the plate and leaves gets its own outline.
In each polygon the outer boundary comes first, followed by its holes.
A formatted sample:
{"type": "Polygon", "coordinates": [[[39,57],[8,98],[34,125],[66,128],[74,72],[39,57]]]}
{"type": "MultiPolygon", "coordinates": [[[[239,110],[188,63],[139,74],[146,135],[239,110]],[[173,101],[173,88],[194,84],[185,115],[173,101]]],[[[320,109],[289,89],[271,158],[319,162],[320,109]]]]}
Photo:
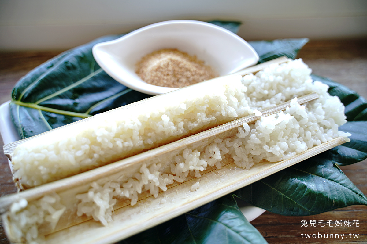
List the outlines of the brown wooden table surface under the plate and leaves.
{"type": "MultiPolygon", "coordinates": [[[[338,41],[310,41],[299,52],[298,57],[312,68],[313,73],[326,76],[341,83],[361,96],[367,98],[367,39],[364,40],[338,40],[338,41]]],[[[28,71],[51,57],[59,54],[59,51],[32,51],[32,52],[2,52],[0,53],[0,104],[11,99],[11,91],[14,84],[28,71]]],[[[366,128],[367,129],[367,128],[366,128]]],[[[3,145],[2,139],[0,144],[3,145]]],[[[363,162],[341,167],[346,176],[367,195],[367,160],[363,162]]],[[[0,196],[16,192],[12,183],[8,161],[0,148],[0,196]]],[[[306,217],[288,217],[266,211],[260,217],[252,221],[265,237],[268,243],[367,243],[367,206],[350,206],[323,214],[306,217]],[[316,231],[316,238],[306,239],[302,231],[302,220],[308,223],[316,220],[318,223],[324,220],[359,220],[360,231],[344,231],[343,239],[330,239],[331,231],[324,227],[316,231]],[[303,235],[302,235],[303,233],[303,235]],[[318,238],[317,233],[323,235],[318,238]],[[351,236],[349,235],[351,233],[351,236]],[[327,234],[325,238],[324,234],[327,234]],[[353,234],[359,234],[353,238],[353,234]],[[303,238],[302,238],[303,237],[303,238]],[[351,238],[350,238],[351,237],[351,238]]],[[[330,228],[329,228],[330,229],[330,228]]],[[[349,228],[350,229],[350,228],[349,228]]],[[[335,233],[335,232],[334,232],[335,233]]],[[[2,226],[0,226],[0,244],[8,244],[2,226]]]]}

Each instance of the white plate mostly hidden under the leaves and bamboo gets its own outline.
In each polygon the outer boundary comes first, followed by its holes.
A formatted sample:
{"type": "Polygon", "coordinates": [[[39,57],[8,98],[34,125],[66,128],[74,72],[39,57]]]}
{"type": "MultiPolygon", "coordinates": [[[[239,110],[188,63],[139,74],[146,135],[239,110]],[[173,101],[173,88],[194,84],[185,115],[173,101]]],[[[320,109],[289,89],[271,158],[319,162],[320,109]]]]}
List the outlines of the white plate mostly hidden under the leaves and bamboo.
{"type": "MultiPolygon", "coordinates": [[[[11,120],[9,103],[10,101],[5,102],[0,106],[0,133],[3,137],[4,144],[15,142],[16,140],[21,139],[11,120]]],[[[240,210],[248,221],[254,220],[265,212],[264,209],[254,207],[243,201],[237,201],[237,203],[239,204],[240,210]]]]}

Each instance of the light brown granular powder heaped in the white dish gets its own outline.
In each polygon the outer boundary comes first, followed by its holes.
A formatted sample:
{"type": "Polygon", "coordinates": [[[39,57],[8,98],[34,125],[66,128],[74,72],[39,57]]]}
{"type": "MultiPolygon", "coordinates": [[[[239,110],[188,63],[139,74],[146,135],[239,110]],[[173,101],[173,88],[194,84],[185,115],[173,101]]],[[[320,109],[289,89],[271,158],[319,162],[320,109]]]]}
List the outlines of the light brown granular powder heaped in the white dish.
{"type": "Polygon", "coordinates": [[[184,87],[218,76],[204,61],[177,49],[160,49],[144,56],[135,72],[146,83],[165,87],[184,87]]]}

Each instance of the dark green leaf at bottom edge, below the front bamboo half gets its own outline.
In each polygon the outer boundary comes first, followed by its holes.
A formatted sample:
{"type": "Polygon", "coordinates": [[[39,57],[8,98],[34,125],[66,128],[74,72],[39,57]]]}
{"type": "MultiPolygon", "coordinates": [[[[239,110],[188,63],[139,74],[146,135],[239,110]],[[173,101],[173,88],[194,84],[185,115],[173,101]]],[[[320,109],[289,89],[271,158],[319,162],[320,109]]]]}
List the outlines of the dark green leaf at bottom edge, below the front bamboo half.
{"type": "Polygon", "coordinates": [[[226,195],[177,218],[120,241],[120,244],[267,243],[226,195]]]}

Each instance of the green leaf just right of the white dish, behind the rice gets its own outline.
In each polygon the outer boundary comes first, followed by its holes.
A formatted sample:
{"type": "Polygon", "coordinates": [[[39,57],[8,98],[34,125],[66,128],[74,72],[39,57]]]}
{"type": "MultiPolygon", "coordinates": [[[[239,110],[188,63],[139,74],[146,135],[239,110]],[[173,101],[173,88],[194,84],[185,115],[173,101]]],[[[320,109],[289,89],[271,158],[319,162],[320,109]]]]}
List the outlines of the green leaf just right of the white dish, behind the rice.
{"type": "Polygon", "coordinates": [[[308,42],[308,38],[278,39],[273,41],[249,41],[248,43],[256,50],[260,60],[264,63],[278,57],[287,56],[295,59],[297,53],[308,42]]]}

